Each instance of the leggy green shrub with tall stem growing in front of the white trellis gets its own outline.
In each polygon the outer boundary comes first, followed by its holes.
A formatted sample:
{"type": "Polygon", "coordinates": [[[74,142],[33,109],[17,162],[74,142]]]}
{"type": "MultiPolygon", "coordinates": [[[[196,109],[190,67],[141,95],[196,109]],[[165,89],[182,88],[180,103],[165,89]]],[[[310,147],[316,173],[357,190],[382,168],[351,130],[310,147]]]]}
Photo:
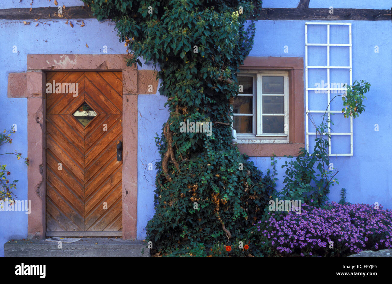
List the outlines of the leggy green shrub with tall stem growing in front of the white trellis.
{"type": "MultiPolygon", "coordinates": [[[[346,106],[342,110],[345,118],[349,116],[358,117],[358,113],[365,110],[365,105],[362,103],[366,97],[363,94],[369,89],[369,83],[364,83],[363,80],[361,80],[361,83],[355,81],[352,86],[347,87],[344,95],[334,96],[334,98],[342,97],[343,105],[346,106]]],[[[334,98],[330,100],[328,106],[334,98]]],[[[328,130],[332,130],[332,128],[328,126],[328,123],[332,125],[334,123],[328,118],[327,109],[319,126],[316,126],[309,117],[316,128],[317,134],[314,139],[316,143],[312,154],[309,154],[305,148],[300,148],[295,160],[286,161],[285,165],[282,165],[282,168],[286,168],[286,172],[283,181],[284,188],[277,193],[278,198],[301,200],[308,205],[323,206],[328,200],[327,194],[330,192],[330,186],[334,186],[335,183],[339,184],[335,177],[339,171],[329,167],[328,147],[330,145],[328,139],[330,139],[330,134],[328,130]]],[[[285,157],[293,158],[292,156],[285,157]]]]}

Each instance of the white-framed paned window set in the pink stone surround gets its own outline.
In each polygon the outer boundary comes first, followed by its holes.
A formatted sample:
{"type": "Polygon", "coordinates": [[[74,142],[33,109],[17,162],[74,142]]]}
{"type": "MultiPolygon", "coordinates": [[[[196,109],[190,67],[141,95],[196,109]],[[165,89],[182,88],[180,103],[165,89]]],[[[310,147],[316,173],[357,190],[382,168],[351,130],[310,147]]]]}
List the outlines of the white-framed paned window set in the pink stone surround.
{"type": "Polygon", "coordinates": [[[232,127],[238,143],[289,143],[289,75],[241,71],[232,127]]]}

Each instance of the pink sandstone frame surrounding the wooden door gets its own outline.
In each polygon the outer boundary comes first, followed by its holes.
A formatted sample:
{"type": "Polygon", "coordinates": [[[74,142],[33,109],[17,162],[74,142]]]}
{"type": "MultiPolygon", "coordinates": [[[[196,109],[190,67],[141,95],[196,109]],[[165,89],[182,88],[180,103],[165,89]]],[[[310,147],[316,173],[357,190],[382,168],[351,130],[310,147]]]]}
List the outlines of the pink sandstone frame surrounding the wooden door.
{"type": "Polygon", "coordinates": [[[123,165],[122,165],[122,237],[137,237],[138,183],[138,94],[147,94],[146,78],[155,94],[156,72],[126,66],[126,54],[28,54],[27,72],[9,73],[9,98],[27,98],[28,237],[46,234],[45,176],[45,83],[47,71],[122,71],[123,76],[123,165]],[[136,141],[136,143],[135,143],[136,141]],[[129,195],[129,196],[127,196],[129,195]],[[126,197],[126,198],[125,198],[126,197]]]}

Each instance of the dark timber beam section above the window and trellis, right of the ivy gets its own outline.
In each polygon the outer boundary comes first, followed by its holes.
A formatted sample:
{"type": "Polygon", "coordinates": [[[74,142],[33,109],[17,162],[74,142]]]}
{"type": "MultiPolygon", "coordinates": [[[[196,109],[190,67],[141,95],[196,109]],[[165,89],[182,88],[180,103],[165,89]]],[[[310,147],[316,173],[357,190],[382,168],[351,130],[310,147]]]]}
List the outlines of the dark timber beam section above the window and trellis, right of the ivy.
{"type": "MultiPolygon", "coordinates": [[[[301,3],[300,3],[301,4],[301,3]]],[[[388,9],[261,8],[258,20],[390,21],[388,9]]]]}

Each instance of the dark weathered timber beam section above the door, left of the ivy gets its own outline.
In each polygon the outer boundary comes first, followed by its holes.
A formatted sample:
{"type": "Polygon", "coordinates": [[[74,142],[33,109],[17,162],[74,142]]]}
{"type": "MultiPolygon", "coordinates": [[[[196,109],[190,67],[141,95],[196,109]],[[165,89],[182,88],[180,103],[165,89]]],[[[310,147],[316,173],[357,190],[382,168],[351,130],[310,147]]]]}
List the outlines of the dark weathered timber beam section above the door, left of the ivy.
{"type": "Polygon", "coordinates": [[[63,18],[57,16],[57,7],[0,9],[0,20],[34,20],[34,19],[89,19],[95,18],[89,7],[70,6],[63,9],[63,18]],[[54,15],[56,13],[56,16],[54,15]]]}

